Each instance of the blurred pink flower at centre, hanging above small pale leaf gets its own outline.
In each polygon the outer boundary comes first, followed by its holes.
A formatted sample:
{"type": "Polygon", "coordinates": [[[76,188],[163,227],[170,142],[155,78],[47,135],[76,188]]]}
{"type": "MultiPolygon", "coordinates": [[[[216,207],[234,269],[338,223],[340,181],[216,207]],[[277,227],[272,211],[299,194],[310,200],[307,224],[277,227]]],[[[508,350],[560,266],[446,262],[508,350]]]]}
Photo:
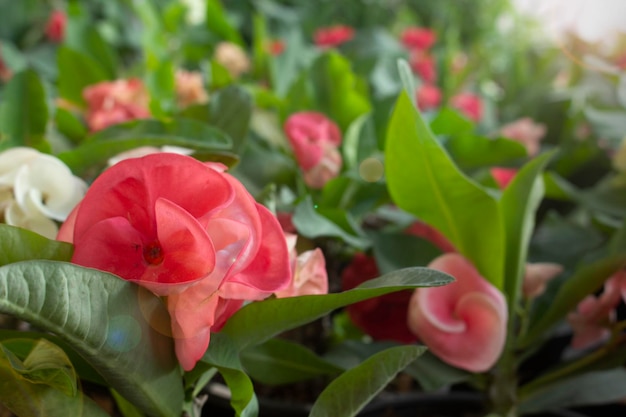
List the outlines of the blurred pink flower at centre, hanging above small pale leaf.
{"type": "Polygon", "coordinates": [[[309,187],[322,188],[339,174],[341,131],[333,121],[321,113],[295,113],[285,122],[285,134],[309,187]]]}

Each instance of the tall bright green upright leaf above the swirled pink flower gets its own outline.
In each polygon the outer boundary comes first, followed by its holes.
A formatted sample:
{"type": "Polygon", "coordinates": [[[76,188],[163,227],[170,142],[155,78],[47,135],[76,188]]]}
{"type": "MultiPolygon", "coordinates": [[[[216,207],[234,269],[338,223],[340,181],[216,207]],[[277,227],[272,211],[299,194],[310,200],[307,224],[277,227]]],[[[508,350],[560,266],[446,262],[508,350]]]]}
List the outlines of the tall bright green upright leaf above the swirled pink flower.
{"type": "Polygon", "coordinates": [[[485,278],[503,288],[505,247],[498,203],[455,166],[406,92],[389,124],[385,166],[396,205],[440,230],[485,278]]]}

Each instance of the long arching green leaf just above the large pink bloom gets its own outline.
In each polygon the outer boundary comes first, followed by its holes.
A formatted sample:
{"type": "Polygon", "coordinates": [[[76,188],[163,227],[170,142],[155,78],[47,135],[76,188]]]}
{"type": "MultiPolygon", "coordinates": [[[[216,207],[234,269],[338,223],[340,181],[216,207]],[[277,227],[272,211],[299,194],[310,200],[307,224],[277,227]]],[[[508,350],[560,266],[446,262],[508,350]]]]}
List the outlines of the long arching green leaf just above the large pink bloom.
{"type": "Polygon", "coordinates": [[[58,156],[76,175],[103,168],[108,159],[140,146],[180,146],[194,149],[205,159],[233,163],[231,140],[220,130],[189,119],[134,120],[108,127],[58,156]],[[221,158],[221,159],[220,159],[221,158]]]}

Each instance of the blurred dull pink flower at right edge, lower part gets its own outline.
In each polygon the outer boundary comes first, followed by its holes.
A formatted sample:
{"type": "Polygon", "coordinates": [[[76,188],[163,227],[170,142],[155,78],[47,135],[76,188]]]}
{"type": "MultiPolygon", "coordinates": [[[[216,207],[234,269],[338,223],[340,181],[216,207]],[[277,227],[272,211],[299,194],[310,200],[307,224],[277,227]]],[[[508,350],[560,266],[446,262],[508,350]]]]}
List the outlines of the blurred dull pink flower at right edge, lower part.
{"type": "Polygon", "coordinates": [[[609,337],[610,326],[615,322],[615,308],[626,299],[626,270],[621,270],[604,283],[599,296],[588,295],[567,316],[574,337],[572,348],[586,349],[609,337]]]}

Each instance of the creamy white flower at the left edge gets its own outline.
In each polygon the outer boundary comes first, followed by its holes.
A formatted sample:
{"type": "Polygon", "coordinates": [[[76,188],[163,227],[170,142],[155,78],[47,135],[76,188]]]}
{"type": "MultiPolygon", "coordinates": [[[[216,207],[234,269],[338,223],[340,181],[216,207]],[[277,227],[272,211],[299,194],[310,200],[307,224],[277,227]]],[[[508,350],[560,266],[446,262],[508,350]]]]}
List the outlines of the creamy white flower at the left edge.
{"type": "Polygon", "coordinates": [[[56,221],[64,221],[83,198],[87,184],[59,159],[32,148],[0,153],[0,213],[4,222],[56,237],[56,221]]]}

